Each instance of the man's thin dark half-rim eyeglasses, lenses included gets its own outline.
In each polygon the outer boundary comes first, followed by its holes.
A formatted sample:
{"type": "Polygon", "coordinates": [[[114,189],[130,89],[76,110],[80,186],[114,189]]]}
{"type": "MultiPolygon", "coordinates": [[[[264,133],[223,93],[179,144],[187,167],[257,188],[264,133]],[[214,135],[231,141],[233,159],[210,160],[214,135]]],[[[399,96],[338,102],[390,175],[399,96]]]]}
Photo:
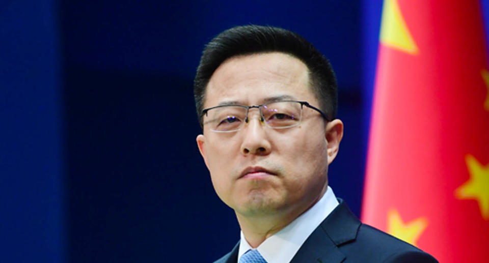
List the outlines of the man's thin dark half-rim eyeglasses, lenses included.
{"type": "Polygon", "coordinates": [[[202,125],[209,125],[210,130],[214,132],[235,132],[240,130],[244,123],[248,123],[248,111],[258,108],[260,121],[266,126],[285,129],[301,123],[303,106],[316,110],[324,119],[330,121],[324,112],[305,101],[286,100],[255,106],[220,105],[206,108],[202,110],[202,125]]]}

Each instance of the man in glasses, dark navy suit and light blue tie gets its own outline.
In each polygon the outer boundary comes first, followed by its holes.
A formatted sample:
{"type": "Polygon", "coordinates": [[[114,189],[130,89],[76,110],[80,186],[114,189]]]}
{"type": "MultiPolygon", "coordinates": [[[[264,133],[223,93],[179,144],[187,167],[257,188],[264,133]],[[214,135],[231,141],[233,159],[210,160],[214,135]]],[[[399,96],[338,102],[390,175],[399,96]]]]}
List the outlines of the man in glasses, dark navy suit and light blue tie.
{"type": "Polygon", "coordinates": [[[336,79],[301,36],[224,31],[203,52],[194,94],[199,151],[241,227],[216,262],[437,262],[362,224],[328,186],[343,136],[336,79]]]}

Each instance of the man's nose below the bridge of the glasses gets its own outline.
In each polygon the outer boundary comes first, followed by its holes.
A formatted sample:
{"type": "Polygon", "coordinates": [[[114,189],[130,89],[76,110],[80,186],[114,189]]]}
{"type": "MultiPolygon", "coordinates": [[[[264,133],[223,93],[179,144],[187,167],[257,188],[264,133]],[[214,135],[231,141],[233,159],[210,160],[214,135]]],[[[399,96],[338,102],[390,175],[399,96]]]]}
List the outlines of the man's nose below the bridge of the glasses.
{"type": "Polygon", "coordinates": [[[243,155],[267,155],[270,153],[271,145],[261,116],[250,116],[248,124],[242,128],[244,138],[241,144],[243,155]]]}

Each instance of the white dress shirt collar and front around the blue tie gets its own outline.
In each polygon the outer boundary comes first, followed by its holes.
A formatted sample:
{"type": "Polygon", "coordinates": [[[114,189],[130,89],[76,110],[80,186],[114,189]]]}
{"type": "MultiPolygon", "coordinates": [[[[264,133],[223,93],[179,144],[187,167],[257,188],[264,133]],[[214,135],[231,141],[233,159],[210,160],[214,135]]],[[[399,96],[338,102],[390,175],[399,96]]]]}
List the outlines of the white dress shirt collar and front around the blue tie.
{"type": "MultiPolygon", "coordinates": [[[[309,210],[294,219],[286,227],[268,237],[258,246],[258,252],[268,263],[287,263],[319,224],[338,206],[333,189],[328,186],[324,195],[309,210]]],[[[252,249],[241,231],[238,262],[241,256],[252,249]]]]}

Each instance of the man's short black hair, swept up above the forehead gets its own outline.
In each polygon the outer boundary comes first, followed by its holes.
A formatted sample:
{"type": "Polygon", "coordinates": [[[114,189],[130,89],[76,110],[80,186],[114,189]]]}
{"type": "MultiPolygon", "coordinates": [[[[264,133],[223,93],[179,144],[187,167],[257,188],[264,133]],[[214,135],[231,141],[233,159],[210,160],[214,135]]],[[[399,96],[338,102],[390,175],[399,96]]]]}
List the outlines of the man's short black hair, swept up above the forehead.
{"type": "Polygon", "coordinates": [[[329,61],[306,39],[280,27],[244,25],[229,28],[214,37],[204,48],[194,79],[194,98],[199,121],[205,90],[214,71],[227,59],[237,55],[283,52],[301,60],[309,69],[311,89],[319,107],[329,120],[336,118],[338,88],[329,61]]]}

